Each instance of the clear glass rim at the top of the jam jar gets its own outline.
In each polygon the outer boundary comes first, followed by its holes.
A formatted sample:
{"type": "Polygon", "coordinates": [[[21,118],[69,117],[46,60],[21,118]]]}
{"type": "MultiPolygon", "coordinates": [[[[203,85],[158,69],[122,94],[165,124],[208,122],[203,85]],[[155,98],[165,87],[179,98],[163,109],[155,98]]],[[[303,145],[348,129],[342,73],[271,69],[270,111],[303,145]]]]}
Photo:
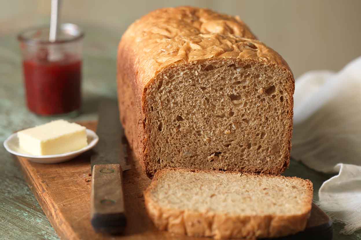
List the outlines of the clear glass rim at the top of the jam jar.
{"type": "Polygon", "coordinates": [[[84,37],[84,31],[74,23],[62,23],[58,27],[58,31],[65,33],[69,36],[68,39],[56,39],[55,41],[49,41],[44,39],[34,39],[33,37],[26,36],[29,32],[36,32],[40,30],[48,30],[49,25],[42,25],[37,27],[27,28],[26,30],[20,32],[17,36],[17,39],[26,44],[63,44],[68,42],[73,42],[84,37]]]}

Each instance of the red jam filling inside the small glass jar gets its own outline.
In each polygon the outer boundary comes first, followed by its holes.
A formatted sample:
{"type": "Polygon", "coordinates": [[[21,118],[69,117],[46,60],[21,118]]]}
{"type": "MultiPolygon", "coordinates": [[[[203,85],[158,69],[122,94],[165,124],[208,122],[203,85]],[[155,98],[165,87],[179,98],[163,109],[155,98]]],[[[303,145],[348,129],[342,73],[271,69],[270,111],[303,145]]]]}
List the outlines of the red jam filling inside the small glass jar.
{"type": "Polygon", "coordinates": [[[59,61],[49,62],[46,55],[23,61],[27,107],[45,116],[78,110],[82,61],[66,55],[59,61]]]}

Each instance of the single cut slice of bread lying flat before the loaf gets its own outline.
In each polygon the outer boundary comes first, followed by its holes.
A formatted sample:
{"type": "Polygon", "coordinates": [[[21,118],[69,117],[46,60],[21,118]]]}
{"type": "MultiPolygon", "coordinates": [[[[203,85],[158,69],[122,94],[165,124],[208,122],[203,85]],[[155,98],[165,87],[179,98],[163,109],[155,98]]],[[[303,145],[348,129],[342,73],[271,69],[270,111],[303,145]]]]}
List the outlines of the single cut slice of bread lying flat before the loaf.
{"type": "Polygon", "coordinates": [[[297,177],[166,168],[145,191],[160,230],[215,239],[280,237],[303,231],[313,186],[297,177]]]}

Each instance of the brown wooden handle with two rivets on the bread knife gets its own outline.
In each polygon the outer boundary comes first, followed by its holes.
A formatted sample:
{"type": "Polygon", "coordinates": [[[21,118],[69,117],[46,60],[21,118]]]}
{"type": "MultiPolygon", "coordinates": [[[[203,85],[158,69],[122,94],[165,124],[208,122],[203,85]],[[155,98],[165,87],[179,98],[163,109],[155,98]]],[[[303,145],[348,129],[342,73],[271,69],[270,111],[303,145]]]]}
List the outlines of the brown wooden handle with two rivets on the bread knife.
{"type": "Polygon", "coordinates": [[[96,232],[119,234],[126,226],[120,164],[93,166],[91,181],[91,224],[96,232]]]}

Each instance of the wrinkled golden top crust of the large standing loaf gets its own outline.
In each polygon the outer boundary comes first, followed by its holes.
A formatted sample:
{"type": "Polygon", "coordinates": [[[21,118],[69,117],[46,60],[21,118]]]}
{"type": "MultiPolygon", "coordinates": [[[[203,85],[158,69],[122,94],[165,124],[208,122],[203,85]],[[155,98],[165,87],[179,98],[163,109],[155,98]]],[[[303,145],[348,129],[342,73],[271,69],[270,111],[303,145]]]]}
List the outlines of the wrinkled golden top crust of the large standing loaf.
{"type": "Polygon", "coordinates": [[[239,17],[184,6],[157,9],[135,21],[118,52],[127,51],[134,61],[139,92],[166,67],[210,58],[252,59],[291,73],[278,53],[256,39],[239,17]]]}

